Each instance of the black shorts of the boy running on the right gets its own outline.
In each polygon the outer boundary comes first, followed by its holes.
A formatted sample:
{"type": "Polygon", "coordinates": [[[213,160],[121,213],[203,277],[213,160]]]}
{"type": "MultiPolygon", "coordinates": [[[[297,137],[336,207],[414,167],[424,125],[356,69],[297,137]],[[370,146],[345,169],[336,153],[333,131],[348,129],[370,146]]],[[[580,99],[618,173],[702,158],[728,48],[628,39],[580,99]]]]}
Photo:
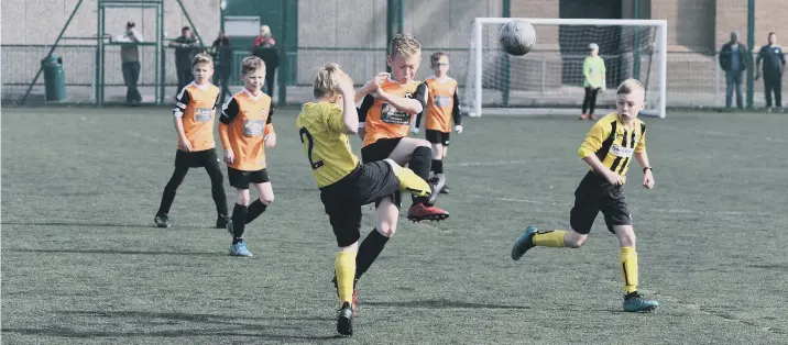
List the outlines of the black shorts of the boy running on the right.
{"type": "Polygon", "coordinates": [[[612,186],[604,177],[589,171],[574,191],[569,224],[577,233],[588,234],[600,211],[611,233],[615,233],[614,225],[632,225],[623,187],[612,186]]]}

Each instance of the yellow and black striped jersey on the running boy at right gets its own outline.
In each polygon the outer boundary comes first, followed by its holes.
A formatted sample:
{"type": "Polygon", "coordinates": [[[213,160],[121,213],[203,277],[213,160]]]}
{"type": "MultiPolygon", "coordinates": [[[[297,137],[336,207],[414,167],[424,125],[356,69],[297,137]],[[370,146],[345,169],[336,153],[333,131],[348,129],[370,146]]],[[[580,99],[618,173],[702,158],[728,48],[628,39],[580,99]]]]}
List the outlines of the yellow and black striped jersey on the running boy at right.
{"type": "Polygon", "coordinates": [[[626,177],[632,156],[646,151],[646,124],[634,119],[630,127],[612,112],[600,119],[589,131],[578,155],[585,158],[597,155],[613,172],[626,177]]]}

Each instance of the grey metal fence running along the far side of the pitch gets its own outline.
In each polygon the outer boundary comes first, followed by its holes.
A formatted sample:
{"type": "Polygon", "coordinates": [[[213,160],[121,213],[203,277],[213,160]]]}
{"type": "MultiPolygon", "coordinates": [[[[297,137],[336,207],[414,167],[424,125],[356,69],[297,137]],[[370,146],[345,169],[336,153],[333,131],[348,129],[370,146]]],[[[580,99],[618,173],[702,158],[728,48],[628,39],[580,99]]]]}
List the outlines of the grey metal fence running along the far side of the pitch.
{"type": "MultiPolygon", "coordinates": [[[[51,46],[47,45],[2,45],[2,102],[4,104],[17,103],[30,86],[36,71],[41,66],[41,59],[46,56],[51,46]]],[[[140,46],[141,74],[139,88],[144,100],[153,100],[155,97],[155,47],[140,46]]],[[[438,51],[438,47],[425,47],[425,54],[438,51]]],[[[451,75],[464,85],[464,75],[468,66],[468,51],[453,48],[448,51],[452,60],[451,75]]],[[[96,55],[95,45],[64,45],[55,49],[56,55],[63,58],[63,68],[66,78],[66,103],[92,104],[96,103],[96,55]]],[[[234,66],[248,56],[249,49],[234,49],[234,66]]],[[[336,62],[346,69],[358,85],[363,84],[370,76],[377,71],[385,70],[384,48],[321,48],[303,47],[297,53],[289,53],[283,56],[283,66],[277,71],[282,74],[280,86],[286,86],[286,102],[299,103],[311,98],[311,78],[316,68],[328,62],[336,62]]],[[[540,58],[534,55],[532,58],[540,58]]],[[[529,71],[535,76],[543,76],[540,87],[535,89],[549,88],[549,70],[555,57],[537,66],[545,66],[545,70],[529,71]]],[[[177,90],[177,75],[175,71],[175,54],[173,49],[165,49],[164,54],[164,93],[165,99],[172,99],[177,90]]],[[[108,102],[122,102],[125,96],[125,86],[121,70],[120,47],[106,47],[105,59],[105,100],[108,102]]],[[[429,76],[431,71],[426,64],[423,64],[418,78],[429,76]]],[[[230,78],[232,90],[240,90],[241,80],[237,77],[237,70],[230,78]]],[[[784,81],[786,82],[786,81],[784,81]]],[[[555,82],[552,82],[555,84],[555,82]]],[[[785,86],[784,86],[785,87],[785,86]]],[[[278,88],[281,92],[281,88],[278,88]]],[[[700,54],[687,52],[668,53],[668,107],[723,107],[725,104],[725,75],[718,64],[716,54],[700,54]]],[[[763,82],[754,85],[754,104],[765,104],[763,96],[763,82]]],[[[746,90],[745,90],[746,93],[746,90]]],[[[274,97],[277,99],[277,97],[274,97]]],[[[44,79],[39,78],[32,89],[28,103],[44,102],[44,79]]]]}

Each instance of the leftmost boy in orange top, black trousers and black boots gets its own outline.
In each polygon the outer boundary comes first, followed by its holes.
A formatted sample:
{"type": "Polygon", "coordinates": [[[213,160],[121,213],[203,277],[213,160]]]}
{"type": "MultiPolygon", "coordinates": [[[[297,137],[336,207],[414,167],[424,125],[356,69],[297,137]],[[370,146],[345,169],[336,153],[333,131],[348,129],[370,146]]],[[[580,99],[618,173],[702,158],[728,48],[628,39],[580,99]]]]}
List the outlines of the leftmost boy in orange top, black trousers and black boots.
{"type": "Polygon", "coordinates": [[[191,73],[195,81],[180,90],[173,109],[175,131],[178,135],[175,171],[164,187],[162,202],[153,221],[158,227],[169,227],[169,208],[186,172],[189,168],[205,167],[210,176],[211,194],[219,214],[216,227],[222,229],[227,226],[229,216],[222,185],[223,176],[214,142],[214,119],[220,92],[219,88],[210,84],[210,77],[214,75],[214,62],[210,55],[197,54],[191,59],[191,73]]]}

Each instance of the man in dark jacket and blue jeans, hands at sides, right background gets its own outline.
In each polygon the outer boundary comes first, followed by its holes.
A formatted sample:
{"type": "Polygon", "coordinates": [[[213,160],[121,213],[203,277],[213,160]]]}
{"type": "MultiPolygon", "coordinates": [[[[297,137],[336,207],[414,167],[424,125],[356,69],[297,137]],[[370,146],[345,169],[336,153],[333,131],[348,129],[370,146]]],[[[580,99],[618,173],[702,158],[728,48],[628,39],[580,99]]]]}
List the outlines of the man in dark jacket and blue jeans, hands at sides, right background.
{"type": "Polygon", "coordinates": [[[725,71],[725,108],[731,108],[733,91],[736,91],[736,108],[742,109],[742,75],[747,69],[749,52],[738,43],[738,33],[731,33],[731,41],[720,48],[720,67],[725,71]]]}

